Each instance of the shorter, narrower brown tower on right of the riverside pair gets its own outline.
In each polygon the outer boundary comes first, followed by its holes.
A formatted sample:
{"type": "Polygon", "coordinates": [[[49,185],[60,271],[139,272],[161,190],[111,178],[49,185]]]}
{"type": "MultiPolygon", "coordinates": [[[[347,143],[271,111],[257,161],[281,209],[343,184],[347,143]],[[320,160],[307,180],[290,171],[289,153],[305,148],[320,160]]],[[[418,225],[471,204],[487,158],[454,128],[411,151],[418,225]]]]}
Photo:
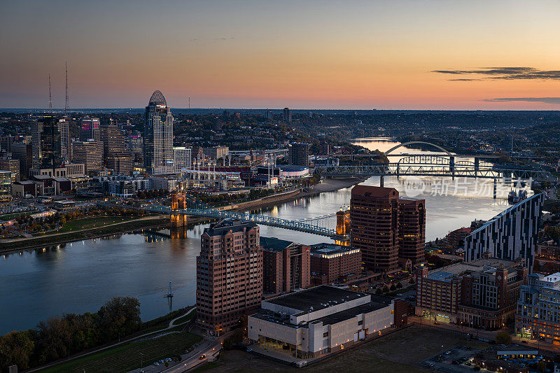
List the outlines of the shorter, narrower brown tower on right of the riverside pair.
{"type": "Polygon", "coordinates": [[[412,265],[424,260],[426,244],[426,209],[423,199],[402,198],[398,211],[398,257],[410,259],[412,265]]]}

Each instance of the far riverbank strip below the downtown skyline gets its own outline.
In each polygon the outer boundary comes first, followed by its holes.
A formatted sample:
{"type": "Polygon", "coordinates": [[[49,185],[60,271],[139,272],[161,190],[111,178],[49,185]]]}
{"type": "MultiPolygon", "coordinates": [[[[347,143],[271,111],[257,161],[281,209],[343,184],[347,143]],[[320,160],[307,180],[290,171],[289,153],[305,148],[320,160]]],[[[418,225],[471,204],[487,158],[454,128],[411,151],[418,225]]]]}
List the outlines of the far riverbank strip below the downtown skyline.
{"type": "MultiPolygon", "coordinates": [[[[253,201],[241,202],[239,204],[230,204],[220,207],[224,211],[251,211],[255,209],[264,209],[278,204],[284,204],[296,199],[312,197],[324,192],[333,192],[335,190],[350,188],[353,185],[365,181],[365,178],[327,178],[322,183],[312,185],[307,190],[292,190],[277,195],[270,195],[255,199],[253,201]]],[[[208,222],[206,217],[189,217],[189,225],[196,225],[208,222]]],[[[82,241],[84,239],[94,239],[99,237],[108,237],[113,234],[125,234],[146,228],[162,229],[169,227],[169,216],[150,216],[131,220],[128,222],[106,225],[104,227],[94,227],[86,230],[79,230],[67,233],[49,234],[44,237],[31,237],[25,239],[15,239],[0,241],[0,253],[10,253],[20,251],[22,249],[41,248],[44,246],[52,246],[58,244],[66,244],[73,241],[82,241]]]]}

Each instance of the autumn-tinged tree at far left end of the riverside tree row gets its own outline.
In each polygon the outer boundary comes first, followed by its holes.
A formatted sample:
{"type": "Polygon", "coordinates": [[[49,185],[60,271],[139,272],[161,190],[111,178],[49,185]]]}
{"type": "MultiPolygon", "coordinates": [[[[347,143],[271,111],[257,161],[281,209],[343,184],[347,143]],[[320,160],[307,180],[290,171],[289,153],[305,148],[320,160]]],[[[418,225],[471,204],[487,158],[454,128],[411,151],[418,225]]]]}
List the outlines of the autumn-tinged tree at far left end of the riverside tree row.
{"type": "Polygon", "coordinates": [[[0,367],[18,365],[20,369],[29,367],[35,342],[29,330],[10,332],[0,337],[0,367]]]}

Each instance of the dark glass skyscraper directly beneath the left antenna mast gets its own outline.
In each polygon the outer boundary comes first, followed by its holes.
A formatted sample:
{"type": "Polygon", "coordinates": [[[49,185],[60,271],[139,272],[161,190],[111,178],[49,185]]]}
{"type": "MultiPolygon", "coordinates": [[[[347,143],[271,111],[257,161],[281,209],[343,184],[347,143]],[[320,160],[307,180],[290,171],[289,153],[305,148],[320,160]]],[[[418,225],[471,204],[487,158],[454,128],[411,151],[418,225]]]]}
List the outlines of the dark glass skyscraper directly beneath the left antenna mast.
{"type": "Polygon", "coordinates": [[[62,148],[58,120],[54,115],[43,115],[33,124],[33,164],[43,169],[62,167],[62,148]]]}

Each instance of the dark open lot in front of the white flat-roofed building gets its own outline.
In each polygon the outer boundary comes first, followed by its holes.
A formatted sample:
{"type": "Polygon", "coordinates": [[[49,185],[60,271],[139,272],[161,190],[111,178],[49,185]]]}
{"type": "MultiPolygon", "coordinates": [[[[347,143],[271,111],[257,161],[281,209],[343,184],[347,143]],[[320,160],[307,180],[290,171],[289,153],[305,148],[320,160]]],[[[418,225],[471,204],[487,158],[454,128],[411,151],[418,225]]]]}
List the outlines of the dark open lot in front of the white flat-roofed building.
{"type": "MultiPolygon", "coordinates": [[[[232,350],[225,351],[218,364],[206,372],[428,372],[421,369],[419,364],[440,353],[442,345],[443,351],[446,351],[451,346],[466,343],[465,337],[445,331],[412,327],[301,369],[232,350]]],[[[479,349],[489,346],[477,341],[468,343],[479,349]]]]}

